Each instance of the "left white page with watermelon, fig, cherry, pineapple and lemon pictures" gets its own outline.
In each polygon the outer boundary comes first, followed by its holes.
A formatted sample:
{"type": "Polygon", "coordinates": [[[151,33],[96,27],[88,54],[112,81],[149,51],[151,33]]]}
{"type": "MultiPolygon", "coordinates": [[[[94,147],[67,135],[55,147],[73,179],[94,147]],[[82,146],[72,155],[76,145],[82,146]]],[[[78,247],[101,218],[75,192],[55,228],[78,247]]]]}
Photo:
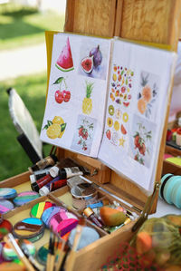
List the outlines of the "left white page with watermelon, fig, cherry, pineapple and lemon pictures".
{"type": "Polygon", "coordinates": [[[109,64],[110,39],[54,34],[41,140],[97,157],[109,64]]]}

